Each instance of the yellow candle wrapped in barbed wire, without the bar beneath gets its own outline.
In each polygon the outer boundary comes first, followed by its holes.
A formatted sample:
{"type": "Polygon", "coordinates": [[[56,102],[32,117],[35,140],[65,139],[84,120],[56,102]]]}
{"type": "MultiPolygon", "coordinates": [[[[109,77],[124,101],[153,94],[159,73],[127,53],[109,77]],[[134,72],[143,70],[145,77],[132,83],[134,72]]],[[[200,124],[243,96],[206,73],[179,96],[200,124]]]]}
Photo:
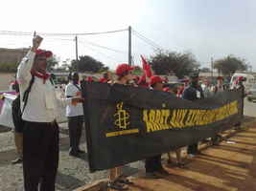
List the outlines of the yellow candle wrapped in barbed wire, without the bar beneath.
{"type": "Polygon", "coordinates": [[[117,113],[114,114],[114,117],[116,118],[114,123],[120,129],[127,129],[129,125],[129,114],[123,109],[123,105],[123,102],[116,105],[117,113]]]}

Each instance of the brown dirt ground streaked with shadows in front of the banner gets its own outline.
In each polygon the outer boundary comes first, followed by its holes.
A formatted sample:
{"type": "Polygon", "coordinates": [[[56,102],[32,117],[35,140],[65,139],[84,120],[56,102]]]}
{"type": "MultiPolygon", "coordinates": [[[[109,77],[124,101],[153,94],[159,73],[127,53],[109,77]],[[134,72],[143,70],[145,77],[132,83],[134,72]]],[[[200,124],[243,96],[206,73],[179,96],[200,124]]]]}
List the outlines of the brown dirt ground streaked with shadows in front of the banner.
{"type": "MultiPolygon", "coordinates": [[[[219,146],[209,147],[187,168],[165,166],[170,176],[134,179],[132,191],[233,191],[256,190],[256,124],[219,146]]],[[[143,174],[143,173],[142,173],[143,174]]]]}

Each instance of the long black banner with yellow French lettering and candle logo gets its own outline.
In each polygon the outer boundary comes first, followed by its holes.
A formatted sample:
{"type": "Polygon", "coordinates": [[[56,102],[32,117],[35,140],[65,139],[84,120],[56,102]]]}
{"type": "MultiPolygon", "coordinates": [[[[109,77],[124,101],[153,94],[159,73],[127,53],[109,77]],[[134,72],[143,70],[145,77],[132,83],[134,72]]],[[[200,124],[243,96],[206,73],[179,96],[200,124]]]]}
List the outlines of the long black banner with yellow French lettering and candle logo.
{"type": "Polygon", "coordinates": [[[214,137],[242,119],[242,92],[197,101],[143,88],[82,82],[90,170],[104,170],[214,137]]]}

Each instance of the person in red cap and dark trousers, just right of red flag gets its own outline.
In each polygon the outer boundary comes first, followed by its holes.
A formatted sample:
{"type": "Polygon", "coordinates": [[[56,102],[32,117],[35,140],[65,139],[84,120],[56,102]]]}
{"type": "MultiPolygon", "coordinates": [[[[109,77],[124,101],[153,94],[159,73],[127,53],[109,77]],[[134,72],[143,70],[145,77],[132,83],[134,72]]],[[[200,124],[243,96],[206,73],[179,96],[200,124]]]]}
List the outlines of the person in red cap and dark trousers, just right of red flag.
{"type": "MultiPolygon", "coordinates": [[[[160,76],[151,76],[151,89],[155,91],[163,91],[163,79],[160,76]]],[[[151,179],[162,178],[168,176],[169,173],[163,168],[161,163],[161,154],[153,156],[145,160],[146,177],[151,179]]]]}

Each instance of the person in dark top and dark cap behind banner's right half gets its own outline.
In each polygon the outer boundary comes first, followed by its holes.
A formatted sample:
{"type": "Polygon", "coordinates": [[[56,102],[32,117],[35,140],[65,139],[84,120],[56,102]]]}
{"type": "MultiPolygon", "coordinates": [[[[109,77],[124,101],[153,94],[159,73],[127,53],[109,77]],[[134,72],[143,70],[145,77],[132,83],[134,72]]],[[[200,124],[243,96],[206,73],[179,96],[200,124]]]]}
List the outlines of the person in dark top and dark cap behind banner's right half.
{"type": "MultiPolygon", "coordinates": [[[[191,101],[204,98],[202,89],[198,84],[198,79],[199,79],[198,73],[190,75],[190,80],[191,80],[190,85],[184,90],[182,94],[182,98],[188,99],[191,101]]],[[[198,142],[195,144],[189,145],[187,153],[191,158],[194,158],[197,154],[199,154],[198,142]]]]}

